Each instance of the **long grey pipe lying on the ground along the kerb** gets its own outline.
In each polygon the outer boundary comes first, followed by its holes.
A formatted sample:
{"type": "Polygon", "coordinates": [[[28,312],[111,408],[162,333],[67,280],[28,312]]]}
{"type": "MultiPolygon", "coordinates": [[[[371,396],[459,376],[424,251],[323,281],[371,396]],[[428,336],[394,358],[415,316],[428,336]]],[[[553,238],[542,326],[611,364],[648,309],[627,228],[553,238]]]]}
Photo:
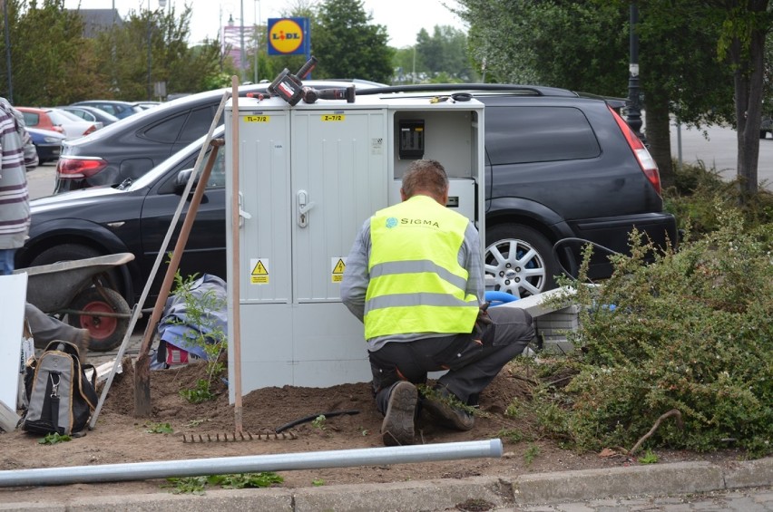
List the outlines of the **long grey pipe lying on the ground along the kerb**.
{"type": "Polygon", "coordinates": [[[249,455],[216,459],[163,460],[0,471],[0,487],[121,482],[152,478],[196,477],[260,471],[348,468],[454,459],[502,457],[502,440],[465,441],[367,449],[249,455]]]}

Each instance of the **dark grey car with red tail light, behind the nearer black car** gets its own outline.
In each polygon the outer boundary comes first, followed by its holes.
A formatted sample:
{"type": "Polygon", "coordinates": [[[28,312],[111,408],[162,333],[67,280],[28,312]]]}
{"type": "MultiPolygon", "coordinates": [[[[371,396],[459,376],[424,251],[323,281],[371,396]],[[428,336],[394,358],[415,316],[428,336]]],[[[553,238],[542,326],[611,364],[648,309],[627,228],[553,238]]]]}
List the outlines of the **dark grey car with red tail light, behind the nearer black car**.
{"type": "MultiPolygon", "coordinates": [[[[373,87],[353,81],[357,90],[373,87]]],[[[318,89],[347,87],[352,82],[307,81],[318,89]]],[[[240,96],[266,92],[268,83],[243,85],[240,96]]],[[[224,92],[191,94],[166,101],[131,118],[114,123],[89,140],[64,143],[56,168],[54,194],[137,179],[176,151],[210,130],[224,92]]],[[[220,123],[222,118],[220,118],[220,123]]]]}

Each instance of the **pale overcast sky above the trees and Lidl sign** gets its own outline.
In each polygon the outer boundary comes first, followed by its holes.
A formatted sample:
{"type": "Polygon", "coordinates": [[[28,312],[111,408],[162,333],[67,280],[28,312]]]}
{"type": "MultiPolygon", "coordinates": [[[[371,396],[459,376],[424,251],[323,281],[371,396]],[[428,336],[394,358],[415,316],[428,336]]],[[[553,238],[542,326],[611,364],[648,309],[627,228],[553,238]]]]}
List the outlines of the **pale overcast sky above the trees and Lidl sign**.
{"type": "MultiPolygon", "coordinates": [[[[168,0],[167,8],[174,5],[181,12],[185,4],[193,6],[191,16],[191,43],[198,43],[205,37],[217,36],[220,25],[227,24],[233,15],[239,24],[242,6],[245,25],[269,18],[281,17],[294,3],[283,0],[168,0]]],[[[124,15],[131,10],[159,7],[159,0],[65,0],[64,6],[75,9],[111,9],[113,6],[124,15]]],[[[456,6],[455,0],[365,0],[365,10],[373,16],[373,23],[383,24],[389,33],[389,44],[401,48],[416,42],[416,34],[425,28],[429,34],[438,25],[452,25],[466,31],[465,25],[445,5],[456,6]]],[[[314,35],[312,34],[312,39],[314,35]]]]}

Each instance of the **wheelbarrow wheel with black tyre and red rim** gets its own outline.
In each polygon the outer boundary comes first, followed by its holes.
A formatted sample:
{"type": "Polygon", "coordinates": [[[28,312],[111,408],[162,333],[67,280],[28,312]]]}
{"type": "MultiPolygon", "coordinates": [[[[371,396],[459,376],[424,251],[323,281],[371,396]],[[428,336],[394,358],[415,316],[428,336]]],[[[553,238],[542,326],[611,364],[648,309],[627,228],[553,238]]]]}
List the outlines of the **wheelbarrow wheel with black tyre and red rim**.
{"type": "Polygon", "coordinates": [[[103,287],[98,290],[93,286],[75,295],[69,309],[93,313],[67,315],[67,321],[70,325],[78,329],[89,330],[92,338],[89,350],[93,352],[107,352],[120,345],[126,330],[129,328],[132,313],[129,304],[126,304],[126,300],[121,294],[112,288],[103,287]],[[100,313],[120,313],[125,314],[125,317],[100,316],[100,313]]]}

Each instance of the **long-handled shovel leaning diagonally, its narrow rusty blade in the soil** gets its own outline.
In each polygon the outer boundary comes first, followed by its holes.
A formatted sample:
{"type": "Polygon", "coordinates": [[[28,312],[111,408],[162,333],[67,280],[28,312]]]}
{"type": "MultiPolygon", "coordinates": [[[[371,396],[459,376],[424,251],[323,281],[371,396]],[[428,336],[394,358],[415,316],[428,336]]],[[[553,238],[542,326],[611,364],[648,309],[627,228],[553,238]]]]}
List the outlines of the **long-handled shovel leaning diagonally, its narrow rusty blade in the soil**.
{"type": "Polygon", "coordinates": [[[191,227],[193,227],[193,221],[196,219],[196,213],[199,211],[204,189],[207,188],[207,181],[210,179],[210,172],[215,164],[215,159],[217,159],[218,149],[223,144],[224,142],[221,139],[210,140],[210,145],[213,146],[210,158],[207,159],[207,165],[201,173],[199,183],[196,184],[196,191],[193,193],[193,198],[191,198],[191,206],[188,207],[188,213],[185,214],[185,220],[182,222],[180,229],[180,236],[177,238],[174,251],[171,254],[171,261],[166,268],[161,291],[156,298],[151,319],[148,321],[147,327],[145,327],[145,335],[140,345],[140,354],[134,365],[134,416],[137,418],[147,418],[151,415],[151,365],[149,349],[151,348],[152,335],[155,332],[156,325],[161,320],[163,306],[166,304],[166,299],[169,298],[174,275],[180,266],[182,252],[185,250],[185,244],[188,242],[188,237],[191,234],[191,227]]]}

